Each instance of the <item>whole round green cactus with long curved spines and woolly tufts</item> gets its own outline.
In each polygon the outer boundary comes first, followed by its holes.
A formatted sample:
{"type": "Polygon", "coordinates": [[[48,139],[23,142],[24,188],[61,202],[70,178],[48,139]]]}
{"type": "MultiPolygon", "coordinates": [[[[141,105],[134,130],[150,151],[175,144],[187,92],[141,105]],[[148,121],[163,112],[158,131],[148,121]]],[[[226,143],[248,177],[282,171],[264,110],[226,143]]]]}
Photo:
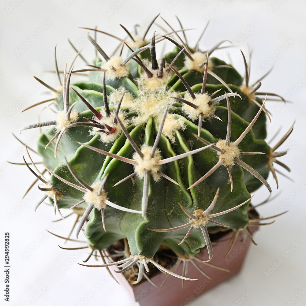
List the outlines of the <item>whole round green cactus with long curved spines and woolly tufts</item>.
{"type": "Polygon", "coordinates": [[[47,197],[62,218],[61,210],[72,209],[79,221],[76,237],[84,228],[90,256],[98,251],[104,262],[90,267],[122,264],[118,272],[124,272],[136,265],[133,284],[152,265],[194,280],[154,259],[161,245],[177,254],[177,263],[193,264],[206,247],[208,263],[211,233],[230,228],[233,239],[239,230],[248,234],[250,192],[264,185],[271,193],[266,179],[271,171],[277,183],[274,162],[288,169],[276,160],[285,153],[274,151],[293,129],[272,148],[265,142],[266,117],[271,118],[266,99],[258,95],[274,94],[257,91],[261,80],[249,85],[242,51],[245,84],[231,65],[211,56],[224,41],[208,51],[201,51],[199,43],[188,47],[179,35],[185,36],[183,28],[175,31],[166,21],[170,33],[155,41],[153,32],[148,41],[155,19],[142,37],[122,26],[128,43],[111,35],[128,49],[126,58],[108,57],[88,34],[101,57],[91,68],[67,72],[66,64],[63,84],[56,64],[59,90],[36,78],[56,93],[55,119],[21,129],[51,126],[38,141],[50,179],[30,155],[31,163],[24,158],[44,184],[35,210],[47,197]],[[156,49],[164,39],[174,50],[158,60],[156,49]],[[89,72],[89,80],[73,83],[73,74],[80,72],[89,72]],[[125,252],[106,263],[107,248],[122,239],[125,252]]]}

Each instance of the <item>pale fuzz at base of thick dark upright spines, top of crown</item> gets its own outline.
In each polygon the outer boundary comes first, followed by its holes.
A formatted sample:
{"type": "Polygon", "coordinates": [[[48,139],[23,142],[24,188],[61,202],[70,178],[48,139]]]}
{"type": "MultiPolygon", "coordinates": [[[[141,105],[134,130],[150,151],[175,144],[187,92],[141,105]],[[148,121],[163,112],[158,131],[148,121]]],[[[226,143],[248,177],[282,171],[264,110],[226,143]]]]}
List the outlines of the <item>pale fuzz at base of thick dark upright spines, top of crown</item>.
{"type": "Polygon", "coordinates": [[[164,85],[170,80],[171,74],[166,73],[166,71],[163,71],[163,75],[161,78],[157,77],[158,70],[153,70],[150,65],[148,67],[150,71],[153,73],[152,77],[147,77],[145,73],[142,73],[142,75],[139,77],[138,81],[138,86],[141,88],[143,91],[148,91],[148,92],[153,92],[153,91],[158,91],[160,90],[161,87],[164,87],[164,85]]]}

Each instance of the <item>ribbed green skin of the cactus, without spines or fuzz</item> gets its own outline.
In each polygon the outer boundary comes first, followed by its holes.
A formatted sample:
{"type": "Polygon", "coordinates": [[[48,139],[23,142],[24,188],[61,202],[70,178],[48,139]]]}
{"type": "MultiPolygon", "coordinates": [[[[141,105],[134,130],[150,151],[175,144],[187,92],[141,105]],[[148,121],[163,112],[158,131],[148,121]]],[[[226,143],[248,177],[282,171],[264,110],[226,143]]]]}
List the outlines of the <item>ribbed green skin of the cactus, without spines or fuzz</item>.
{"type": "MultiPolygon", "coordinates": [[[[166,62],[170,63],[178,51],[179,50],[175,48],[173,52],[167,53],[166,62]]],[[[150,52],[146,50],[139,54],[139,57],[142,59],[148,58],[150,60],[150,52]]],[[[226,65],[225,62],[217,58],[211,58],[211,61],[215,65],[226,65]]],[[[102,63],[103,62],[101,62],[99,58],[94,60],[94,65],[100,66],[102,63]]],[[[108,84],[106,86],[108,96],[120,86],[123,86],[135,97],[140,95],[137,88],[136,77],[140,76],[140,73],[142,74],[143,72],[134,62],[129,65],[131,67],[129,77],[116,79],[115,81],[106,80],[108,84]]],[[[203,73],[184,68],[184,55],[180,55],[175,63],[175,68],[181,73],[194,93],[201,91],[203,73]]],[[[242,84],[242,77],[235,69],[218,68],[213,69],[213,72],[229,84],[233,92],[237,92],[242,97],[242,101],[237,96],[229,98],[232,110],[232,132],[230,141],[235,141],[248,126],[249,122],[255,117],[259,107],[250,103],[248,97],[240,91],[239,86],[242,84]]],[[[186,89],[183,83],[176,74],[172,71],[170,73],[173,74],[173,76],[168,81],[167,88],[176,91],[184,97],[186,89]]],[[[72,88],[80,93],[80,95],[82,95],[93,107],[99,110],[103,107],[102,79],[103,74],[95,72],[90,74],[89,81],[72,83],[70,87],[70,105],[75,101],[79,101],[74,108],[80,113],[78,121],[86,121],[83,117],[92,118],[92,114],[85,104],[80,101],[72,88]],[[95,80],[95,82],[93,80],[95,80]]],[[[221,90],[215,97],[223,95],[225,91],[228,92],[225,86],[208,75],[206,91],[212,94],[217,89],[221,90]]],[[[262,104],[260,99],[256,99],[262,104]]],[[[174,130],[175,142],[171,142],[164,135],[161,136],[158,148],[161,151],[162,158],[168,158],[205,146],[192,135],[192,133],[197,134],[198,122],[192,122],[184,117],[182,103],[173,99],[170,99],[169,102],[171,104],[168,113],[176,114],[177,118],[183,118],[186,128],[184,130],[174,130]]],[[[63,109],[62,94],[58,96],[56,106],[58,110],[63,109]]],[[[124,104],[121,110],[125,110],[126,119],[138,116],[136,110],[132,107],[126,108],[124,104]]],[[[227,107],[225,99],[216,106],[215,115],[220,117],[222,122],[215,118],[206,120],[202,124],[200,135],[211,143],[216,143],[219,139],[226,138],[227,107]]],[[[127,130],[139,147],[144,144],[153,146],[158,129],[159,122],[156,118],[152,117],[146,122],[142,122],[138,125],[130,124],[127,126],[127,130]]],[[[89,185],[96,181],[101,181],[106,174],[109,174],[104,186],[108,199],[120,206],[141,210],[143,179],[135,176],[133,180],[129,179],[113,187],[115,183],[134,172],[133,166],[117,159],[106,157],[76,143],[76,141],[79,141],[114,154],[132,158],[135,151],[131,147],[129,141],[126,139],[125,135],[121,133],[114,143],[105,144],[100,140],[98,134],[95,136],[90,135],[89,130],[89,127],[68,129],[59,143],[56,158],[54,158],[55,141],[47,147],[46,151],[44,150],[46,144],[54,136],[56,130],[52,128],[44,132],[38,141],[38,150],[43,156],[44,163],[60,177],[76,185],[80,184],[78,184],[70,174],[64,161],[64,156],[67,157],[69,164],[76,174],[89,185]]],[[[262,112],[252,130],[238,147],[244,152],[266,152],[268,154],[270,152],[270,147],[265,142],[265,137],[266,115],[262,112]]],[[[267,178],[269,173],[266,167],[268,162],[267,154],[243,155],[241,156],[241,160],[258,171],[263,177],[267,178]]],[[[217,154],[213,149],[208,148],[194,155],[185,157],[184,159],[163,165],[161,171],[177,181],[181,187],[163,177],[157,182],[150,177],[149,200],[146,216],[142,218],[141,214],[123,212],[108,206],[104,212],[106,231],[103,230],[100,211],[94,209],[90,214],[90,220],[85,230],[85,236],[88,242],[93,245],[94,248],[102,250],[119,239],[127,238],[132,255],[140,254],[148,258],[153,257],[163,243],[177,253],[186,253],[193,257],[200,251],[200,248],[205,246],[205,240],[200,230],[192,230],[185,242],[181,245],[177,245],[184,238],[188,229],[160,233],[148,230],[148,228],[168,229],[186,224],[188,222],[188,217],[179,207],[179,203],[186,207],[191,213],[197,208],[205,210],[212,202],[218,188],[220,188],[220,193],[215,208],[212,211],[213,213],[225,211],[226,209],[248,200],[250,198],[250,192],[255,191],[262,185],[257,178],[243,170],[240,166],[234,165],[232,168],[234,182],[232,192],[229,183],[229,175],[224,166],[219,167],[213,174],[196,187],[187,190],[190,185],[206,174],[217,162],[217,154]]],[[[64,196],[58,200],[58,205],[61,209],[69,208],[83,199],[83,192],[64,184],[54,176],[51,176],[50,184],[64,196]]],[[[50,199],[50,201],[53,203],[52,199],[50,199]]],[[[214,220],[231,226],[233,229],[242,228],[248,223],[248,215],[246,212],[248,204],[249,202],[214,220]]],[[[86,208],[87,205],[86,202],[81,204],[84,208],[86,208]]],[[[215,230],[217,227],[218,226],[213,223],[207,224],[208,230],[212,228],[215,230]]]]}

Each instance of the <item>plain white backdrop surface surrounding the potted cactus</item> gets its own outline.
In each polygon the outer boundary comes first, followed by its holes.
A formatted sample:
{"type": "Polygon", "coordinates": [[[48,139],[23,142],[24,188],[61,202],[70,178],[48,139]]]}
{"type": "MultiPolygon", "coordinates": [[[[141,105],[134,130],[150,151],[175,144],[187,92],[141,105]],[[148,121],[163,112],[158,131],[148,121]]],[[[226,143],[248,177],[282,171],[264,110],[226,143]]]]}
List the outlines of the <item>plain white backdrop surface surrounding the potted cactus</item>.
{"type": "MultiPolygon", "coordinates": [[[[57,244],[63,245],[63,242],[48,234],[46,229],[65,235],[74,220],[68,218],[53,223],[52,220],[57,217],[47,205],[42,205],[34,213],[33,208],[42,196],[41,192],[35,187],[24,203],[22,200],[25,190],[33,181],[32,175],[25,166],[9,165],[6,161],[22,161],[24,148],[11,132],[17,135],[22,126],[36,122],[37,112],[42,107],[22,114],[21,110],[50,97],[43,86],[36,88],[32,75],[54,87],[58,86],[56,76],[44,72],[54,69],[55,44],[58,46],[59,62],[65,62],[65,56],[70,54],[68,37],[79,44],[78,49],[84,48],[82,54],[89,61],[94,51],[87,41],[83,41],[86,30],[78,27],[97,25],[100,30],[124,37],[119,23],[131,30],[138,23],[142,29],[159,12],[175,28],[179,28],[175,15],[180,17],[185,28],[196,28],[188,31],[191,46],[206,25],[207,17],[211,18],[211,22],[201,40],[203,49],[229,39],[247,54],[249,45],[252,50],[251,82],[255,82],[263,71],[267,71],[266,66],[273,62],[274,69],[263,80],[260,90],[278,93],[294,103],[283,105],[267,102],[267,109],[273,115],[272,124],[268,125],[268,140],[282,127],[279,138],[296,120],[292,135],[280,147],[280,150],[288,149],[288,154],[280,160],[291,167],[289,175],[294,182],[278,175],[280,195],[259,209],[265,217],[280,210],[289,209],[289,212],[277,218],[274,224],[260,229],[256,237],[258,246],[251,246],[241,274],[190,305],[305,305],[305,9],[306,2],[303,0],[155,0],[152,4],[126,0],[1,2],[0,265],[4,261],[4,232],[9,231],[11,305],[135,305],[127,293],[110,280],[103,268],[84,268],[77,264],[86,258],[86,249],[65,251],[58,248],[57,244]],[[10,7],[12,9],[9,11],[10,7]],[[20,45],[29,40],[31,44],[21,53],[17,52],[21,49],[20,45]],[[270,275],[265,274],[269,268],[275,270],[270,270],[270,275]],[[89,299],[86,300],[86,297],[89,299]]],[[[158,23],[166,27],[161,19],[158,23]]],[[[153,26],[151,32],[155,29],[158,30],[153,26]]],[[[109,55],[117,45],[117,41],[102,34],[98,35],[98,42],[109,55]]],[[[238,48],[224,49],[214,55],[224,57],[227,62],[231,59],[239,72],[244,74],[238,48]]],[[[70,63],[73,56],[69,55],[70,63]]],[[[79,59],[76,67],[83,67],[79,59]]],[[[63,65],[60,69],[63,69],[63,65]]],[[[41,120],[47,118],[53,118],[52,114],[44,110],[41,120]]],[[[20,135],[33,148],[37,136],[37,130],[25,131],[20,135]]],[[[39,161],[34,155],[33,159],[39,161]]],[[[268,181],[275,195],[277,190],[273,178],[269,176],[268,181]]],[[[253,203],[259,203],[267,196],[267,190],[262,187],[256,192],[253,203]]],[[[4,299],[3,275],[0,272],[1,301],[4,299]]]]}

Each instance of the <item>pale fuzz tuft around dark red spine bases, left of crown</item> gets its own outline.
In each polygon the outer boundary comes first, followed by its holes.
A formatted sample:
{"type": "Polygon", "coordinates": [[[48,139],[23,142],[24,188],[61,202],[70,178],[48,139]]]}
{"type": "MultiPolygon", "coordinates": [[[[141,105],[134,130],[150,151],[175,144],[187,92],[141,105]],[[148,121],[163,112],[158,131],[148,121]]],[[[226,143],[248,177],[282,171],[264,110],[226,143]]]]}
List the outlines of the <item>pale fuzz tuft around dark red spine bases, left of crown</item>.
{"type": "MultiPolygon", "coordinates": [[[[95,135],[97,132],[100,133],[100,140],[106,144],[108,143],[112,143],[114,142],[118,136],[121,134],[121,126],[119,125],[119,123],[116,123],[114,124],[113,123],[113,120],[114,120],[114,113],[111,112],[110,113],[110,117],[106,117],[106,114],[105,114],[105,110],[104,108],[100,110],[100,114],[103,116],[101,118],[101,120],[99,120],[99,123],[100,124],[107,124],[109,125],[111,128],[115,128],[115,132],[112,133],[112,134],[105,134],[103,132],[98,132],[99,130],[101,130],[100,128],[92,128],[92,130],[90,131],[90,134],[91,135],[95,135]]],[[[127,126],[128,125],[128,121],[126,121],[123,117],[122,114],[118,114],[118,117],[120,119],[120,121],[123,123],[124,126],[127,126]]],[[[95,120],[97,120],[97,118],[95,118],[95,120]]],[[[105,129],[106,132],[108,132],[107,129],[105,129]]]]}

